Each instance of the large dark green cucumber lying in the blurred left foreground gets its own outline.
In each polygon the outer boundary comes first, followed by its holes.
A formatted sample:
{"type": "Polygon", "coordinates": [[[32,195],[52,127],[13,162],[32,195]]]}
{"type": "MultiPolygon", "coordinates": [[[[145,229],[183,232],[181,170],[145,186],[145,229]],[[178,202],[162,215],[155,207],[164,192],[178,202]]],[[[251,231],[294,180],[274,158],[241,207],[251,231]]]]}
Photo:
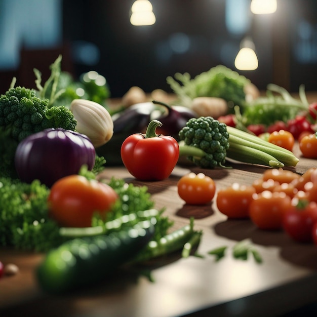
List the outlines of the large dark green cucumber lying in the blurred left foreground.
{"type": "Polygon", "coordinates": [[[146,220],[108,235],[69,240],[51,250],[38,266],[38,284],[59,294],[101,281],[138,254],[153,234],[154,224],[146,220]]]}

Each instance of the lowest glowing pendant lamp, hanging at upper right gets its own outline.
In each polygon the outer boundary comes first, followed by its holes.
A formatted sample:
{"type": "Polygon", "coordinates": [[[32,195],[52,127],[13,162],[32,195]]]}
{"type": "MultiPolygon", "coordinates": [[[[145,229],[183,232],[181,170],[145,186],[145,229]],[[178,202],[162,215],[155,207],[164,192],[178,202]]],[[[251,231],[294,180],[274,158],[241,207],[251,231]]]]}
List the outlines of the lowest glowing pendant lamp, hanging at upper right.
{"type": "Polygon", "coordinates": [[[245,38],[241,42],[241,49],[235,57],[234,66],[239,70],[255,70],[258,68],[259,62],[255,54],[255,46],[250,38],[245,38]]]}

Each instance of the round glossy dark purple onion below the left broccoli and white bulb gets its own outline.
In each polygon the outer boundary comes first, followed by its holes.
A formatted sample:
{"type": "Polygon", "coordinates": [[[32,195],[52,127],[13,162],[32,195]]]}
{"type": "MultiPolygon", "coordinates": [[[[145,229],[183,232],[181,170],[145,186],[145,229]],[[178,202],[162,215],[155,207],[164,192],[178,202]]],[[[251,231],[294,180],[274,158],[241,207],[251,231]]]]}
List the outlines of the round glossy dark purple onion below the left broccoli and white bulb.
{"type": "Polygon", "coordinates": [[[15,153],[15,167],[21,181],[38,179],[51,187],[58,179],[78,174],[83,165],[92,170],[96,151],[83,134],[46,129],[22,140],[15,153]]]}

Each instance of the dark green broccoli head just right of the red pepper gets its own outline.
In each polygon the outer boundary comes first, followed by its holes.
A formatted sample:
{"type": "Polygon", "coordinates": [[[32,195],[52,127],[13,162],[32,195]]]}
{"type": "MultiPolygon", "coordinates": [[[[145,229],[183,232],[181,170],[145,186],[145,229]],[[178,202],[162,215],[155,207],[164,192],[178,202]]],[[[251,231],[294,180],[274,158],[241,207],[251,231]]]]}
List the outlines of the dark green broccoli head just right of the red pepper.
{"type": "Polygon", "coordinates": [[[180,155],[202,168],[223,167],[229,133],[226,125],[211,116],[191,118],[186,126],[179,131],[180,155]]]}

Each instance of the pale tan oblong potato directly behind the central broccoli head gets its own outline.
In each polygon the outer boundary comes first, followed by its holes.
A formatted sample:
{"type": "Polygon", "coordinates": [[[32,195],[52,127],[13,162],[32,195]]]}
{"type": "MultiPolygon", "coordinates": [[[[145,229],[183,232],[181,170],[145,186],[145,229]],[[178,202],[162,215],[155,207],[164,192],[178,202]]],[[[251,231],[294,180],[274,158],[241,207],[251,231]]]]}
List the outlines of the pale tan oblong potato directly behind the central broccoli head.
{"type": "Polygon", "coordinates": [[[192,100],[191,109],[199,116],[212,116],[215,119],[228,113],[227,102],[217,97],[196,97],[192,100]]]}

